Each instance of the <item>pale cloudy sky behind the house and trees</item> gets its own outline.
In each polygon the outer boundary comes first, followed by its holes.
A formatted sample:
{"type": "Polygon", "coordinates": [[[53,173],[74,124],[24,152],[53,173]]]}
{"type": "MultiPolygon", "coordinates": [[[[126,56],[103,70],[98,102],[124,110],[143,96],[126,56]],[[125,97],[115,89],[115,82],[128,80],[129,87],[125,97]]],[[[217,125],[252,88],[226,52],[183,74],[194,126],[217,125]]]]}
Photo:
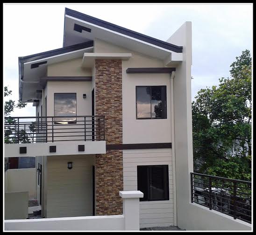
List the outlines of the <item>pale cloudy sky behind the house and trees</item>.
{"type": "MultiPolygon", "coordinates": [[[[230,76],[229,66],[243,50],[252,51],[252,4],[4,4],[3,85],[13,91],[8,98],[19,98],[19,56],[62,47],[65,7],[163,41],[192,21],[192,100],[230,76]]],[[[36,116],[36,109],[28,103],[11,116],[36,116]]]]}

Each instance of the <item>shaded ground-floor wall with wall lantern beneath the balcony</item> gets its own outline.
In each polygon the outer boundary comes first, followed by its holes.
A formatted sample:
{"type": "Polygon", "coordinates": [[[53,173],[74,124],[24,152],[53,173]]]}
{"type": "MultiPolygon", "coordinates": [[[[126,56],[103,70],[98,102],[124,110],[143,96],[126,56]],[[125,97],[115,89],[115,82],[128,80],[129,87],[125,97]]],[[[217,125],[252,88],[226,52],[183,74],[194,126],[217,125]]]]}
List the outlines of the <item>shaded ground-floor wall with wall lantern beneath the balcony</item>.
{"type": "Polygon", "coordinates": [[[92,215],[93,162],[93,155],[48,156],[47,218],[92,215]]]}

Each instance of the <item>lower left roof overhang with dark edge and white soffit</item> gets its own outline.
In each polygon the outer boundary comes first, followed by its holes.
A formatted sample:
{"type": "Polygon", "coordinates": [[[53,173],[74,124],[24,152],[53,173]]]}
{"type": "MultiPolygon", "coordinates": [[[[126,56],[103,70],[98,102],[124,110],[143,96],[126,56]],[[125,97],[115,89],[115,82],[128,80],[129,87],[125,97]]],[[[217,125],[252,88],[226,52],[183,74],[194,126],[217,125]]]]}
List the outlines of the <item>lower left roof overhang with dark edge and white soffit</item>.
{"type": "Polygon", "coordinates": [[[93,51],[93,41],[50,50],[35,55],[19,57],[19,99],[33,102],[36,90],[42,89],[40,79],[46,76],[47,66],[75,58],[83,58],[85,52],[93,51]]]}

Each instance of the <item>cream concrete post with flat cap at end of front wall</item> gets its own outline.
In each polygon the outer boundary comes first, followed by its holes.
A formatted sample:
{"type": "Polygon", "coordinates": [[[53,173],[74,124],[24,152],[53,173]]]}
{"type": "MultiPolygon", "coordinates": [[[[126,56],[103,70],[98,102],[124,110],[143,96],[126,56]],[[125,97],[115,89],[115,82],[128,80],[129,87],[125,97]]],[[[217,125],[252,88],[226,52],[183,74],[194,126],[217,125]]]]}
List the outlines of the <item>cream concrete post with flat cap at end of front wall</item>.
{"type": "Polygon", "coordinates": [[[123,199],[124,230],[140,230],[140,201],[143,197],[141,191],[119,191],[123,199]]]}

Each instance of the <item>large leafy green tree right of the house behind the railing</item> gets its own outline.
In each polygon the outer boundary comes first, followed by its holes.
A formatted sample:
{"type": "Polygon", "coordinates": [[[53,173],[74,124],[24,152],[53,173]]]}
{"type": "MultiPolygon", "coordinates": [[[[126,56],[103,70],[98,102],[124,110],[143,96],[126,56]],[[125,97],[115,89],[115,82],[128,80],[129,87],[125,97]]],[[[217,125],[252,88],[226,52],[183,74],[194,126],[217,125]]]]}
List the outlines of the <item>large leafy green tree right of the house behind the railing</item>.
{"type": "Polygon", "coordinates": [[[230,78],[192,102],[194,171],[251,180],[251,56],[242,51],[230,78]]]}

